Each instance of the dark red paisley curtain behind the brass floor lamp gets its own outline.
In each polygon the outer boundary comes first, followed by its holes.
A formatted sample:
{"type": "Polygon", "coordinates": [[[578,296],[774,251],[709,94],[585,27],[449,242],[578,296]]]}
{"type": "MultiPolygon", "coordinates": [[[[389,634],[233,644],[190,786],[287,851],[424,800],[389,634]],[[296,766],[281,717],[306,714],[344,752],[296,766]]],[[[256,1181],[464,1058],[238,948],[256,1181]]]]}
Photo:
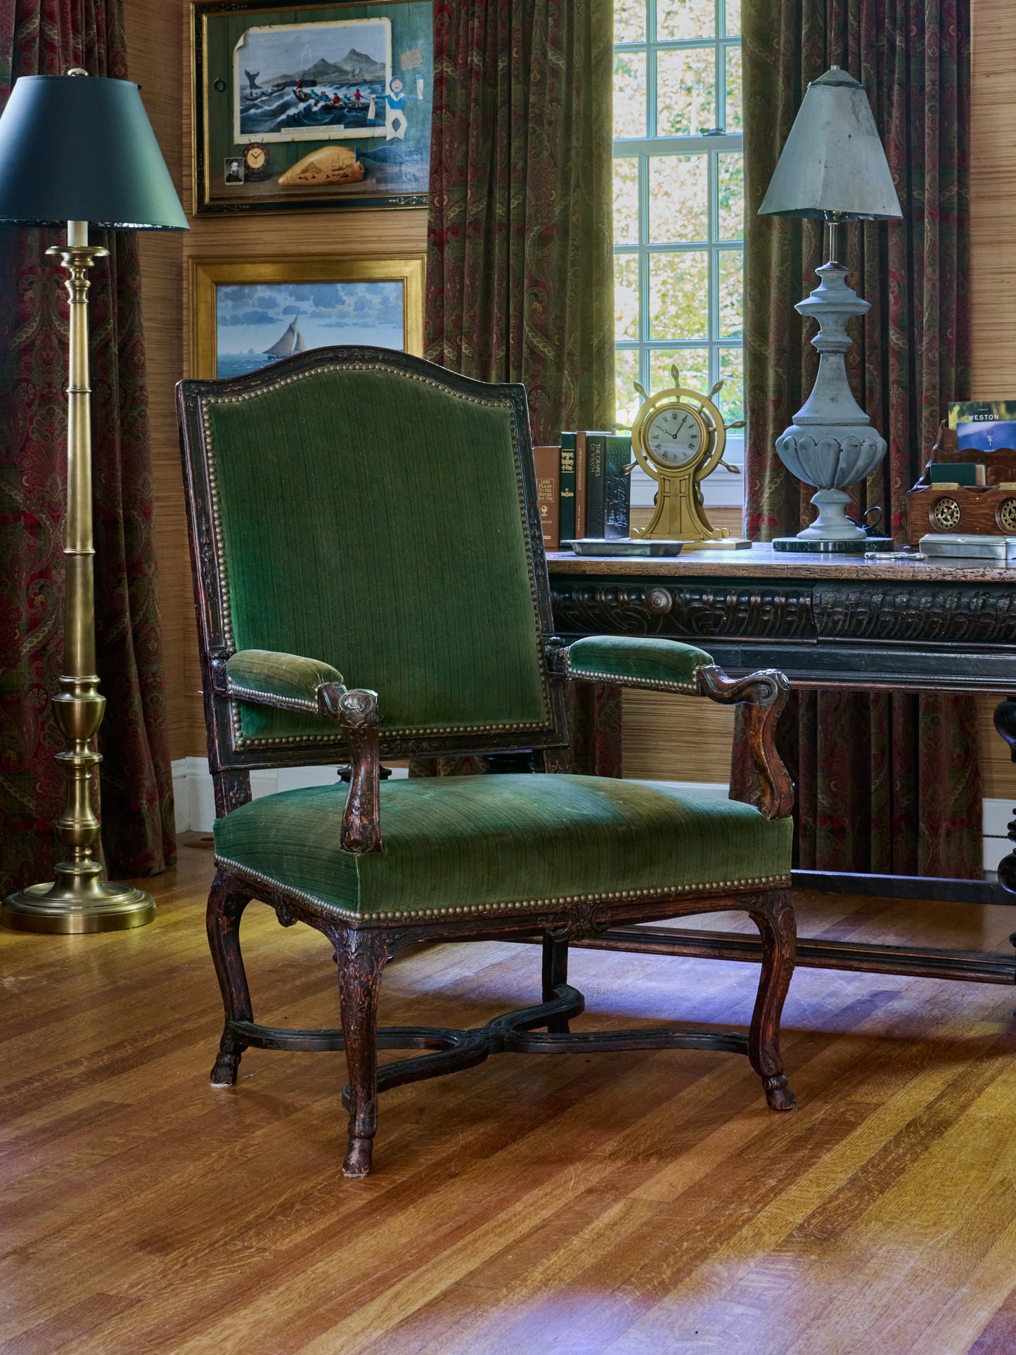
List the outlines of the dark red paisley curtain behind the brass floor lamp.
{"type": "MultiPolygon", "coordinates": [[[[0,0],[0,106],[22,75],[68,66],[126,79],[121,0],[0,0]]],[[[64,804],[64,747],[50,696],[62,667],[66,485],[64,270],[46,259],[60,230],[0,230],[0,892],[51,878],[64,804]]],[[[118,875],[172,864],[152,470],[133,234],[89,294],[99,734],[103,848],[118,875]]]]}

